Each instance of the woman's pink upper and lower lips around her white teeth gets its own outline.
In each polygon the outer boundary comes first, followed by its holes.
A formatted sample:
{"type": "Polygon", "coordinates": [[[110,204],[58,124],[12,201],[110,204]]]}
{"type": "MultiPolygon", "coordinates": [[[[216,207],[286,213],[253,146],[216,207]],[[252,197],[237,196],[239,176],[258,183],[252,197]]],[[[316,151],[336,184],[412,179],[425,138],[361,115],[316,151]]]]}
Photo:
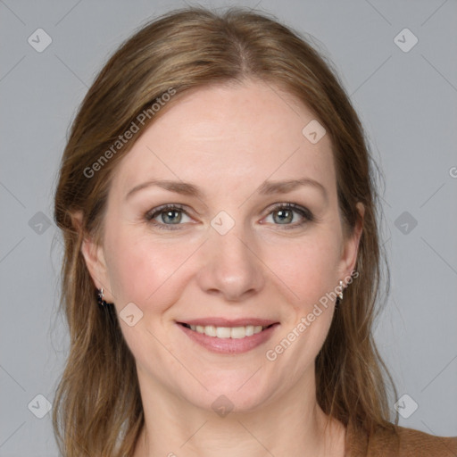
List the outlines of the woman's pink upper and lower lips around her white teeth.
{"type": "Polygon", "coordinates": [[[247,353],[254,348],[266,343],[270,337],[275,332],[276,328],[279,326],[279,322],[274,322],[272,320],[219,320],[219,319],[208,319],[208,320],[191,320],[185,322],[188,325],[215,325],[216,327],[244,327],[245,325],[253,325],[253,322],[266,322],[258,323],[255,325],[268,326],[260,333],[256,333],[251,337],[244,338],[218,338],[218,337],[208,337],[204,333],[198,333],[195,330],[184,327],[182,323],[177,322],[176,325],[189,337],[192,341],[198,345],[203,346],[206,350],[212,353],[220,354],[241,354],[247,353]],[[211,322],[208,324],[202,324],[203,322],[211,322]],[[218,322],[216,325],[213,322],[218,322]],[[243,324],[241,322],[248,322],[243,324]],[[228,323],[230,325],[228,325],[228,323]]]}

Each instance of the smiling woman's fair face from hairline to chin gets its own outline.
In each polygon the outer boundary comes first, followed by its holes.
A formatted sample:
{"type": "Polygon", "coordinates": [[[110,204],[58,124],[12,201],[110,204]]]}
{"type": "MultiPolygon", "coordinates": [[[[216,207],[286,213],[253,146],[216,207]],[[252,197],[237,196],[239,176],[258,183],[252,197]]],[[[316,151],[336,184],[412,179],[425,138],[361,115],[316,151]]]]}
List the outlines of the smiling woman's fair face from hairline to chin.
{"type": "Polygon", "coordinates": [[[249,411],[313,386],[360,228],[345,239],[330,139],[315,123],[303,133],[312,120],[265,83],[204,87],[118,165],[103,244],[83,252],[142,390],[249,411]]]}

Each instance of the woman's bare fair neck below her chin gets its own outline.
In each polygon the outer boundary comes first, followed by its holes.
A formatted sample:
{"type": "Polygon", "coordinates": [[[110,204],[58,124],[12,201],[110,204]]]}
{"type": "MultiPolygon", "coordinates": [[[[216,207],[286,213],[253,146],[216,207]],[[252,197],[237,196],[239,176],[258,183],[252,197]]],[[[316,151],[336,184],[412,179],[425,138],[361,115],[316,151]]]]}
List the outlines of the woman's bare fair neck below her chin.
{"type": "Polygon", "coordinates": [[[145,387],[140,382],[145,427],[134,457],[344,455],[345,427],[320,409],[315,389],[310,386],[296,386],[287,397],[225,417],[161,391],[158,386],[145,387]]]}

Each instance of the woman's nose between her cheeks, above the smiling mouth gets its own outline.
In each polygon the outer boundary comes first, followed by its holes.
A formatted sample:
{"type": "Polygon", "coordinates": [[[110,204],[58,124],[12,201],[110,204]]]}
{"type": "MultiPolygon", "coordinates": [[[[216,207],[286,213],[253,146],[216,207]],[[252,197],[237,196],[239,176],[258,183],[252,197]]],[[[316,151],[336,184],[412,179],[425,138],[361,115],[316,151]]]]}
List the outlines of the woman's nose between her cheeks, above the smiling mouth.
{"type": "Polygon", "coordinates": [[[233,228],[225,235],[212,230],[201,253],[197,282],[206,294],[239,302],[258,294],[265,284],[262,261],[253,242],[233,228]]]}

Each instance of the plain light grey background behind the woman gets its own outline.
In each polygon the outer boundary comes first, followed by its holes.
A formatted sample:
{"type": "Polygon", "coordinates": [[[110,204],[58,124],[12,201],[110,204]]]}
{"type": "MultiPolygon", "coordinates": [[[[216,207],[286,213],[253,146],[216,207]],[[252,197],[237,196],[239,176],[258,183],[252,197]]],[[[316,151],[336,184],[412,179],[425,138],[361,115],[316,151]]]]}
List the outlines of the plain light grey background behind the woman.
{"type": "MultiPolygon", "coordinates": [[[[272,12],[312,34],[335,62],[386,177],[392,291],[376,338],[399,396],[419,406],[400,424],[456,436],[457,2],[201,4],[272,12]],[[419,38],[407,53],[394,41],[404,28],[419,38]]],[[[71,119],[108,54],[147,19],[183,5],[0,0],[1,456],[57,455],[50,413],[32,411],[44,408],[36,395],[53,402],[67,348],[56,315],[62,244],[51,221],[71,119]],[[53,40],[42,53],[28,43],[38,28],[53,40]]],[[[414,405],[400,404],[406,412],[414,405]]]]}

